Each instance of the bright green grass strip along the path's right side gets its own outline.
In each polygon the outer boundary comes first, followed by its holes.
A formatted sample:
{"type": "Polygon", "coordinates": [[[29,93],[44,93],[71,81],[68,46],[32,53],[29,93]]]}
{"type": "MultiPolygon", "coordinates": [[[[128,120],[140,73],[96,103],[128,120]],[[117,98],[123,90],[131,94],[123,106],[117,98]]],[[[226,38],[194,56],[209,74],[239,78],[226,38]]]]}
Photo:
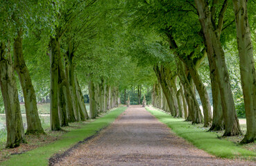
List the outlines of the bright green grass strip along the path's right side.
{"type": "Polygon", "coordinates": [[[243,158],[256,160],[256,153],[243,149],[242,145],[234,144],[228,140],[220,139],[214,132],[206,132],[207,129],[198,127],[190,122],[184,122],[182,119],[173,118],[167,113],[156,109],[146,108],[160,122],[167,124],[171,130],[178,136],[185,138],[199,149],[207,151],[209,154],[221,158],[243,158]]]}

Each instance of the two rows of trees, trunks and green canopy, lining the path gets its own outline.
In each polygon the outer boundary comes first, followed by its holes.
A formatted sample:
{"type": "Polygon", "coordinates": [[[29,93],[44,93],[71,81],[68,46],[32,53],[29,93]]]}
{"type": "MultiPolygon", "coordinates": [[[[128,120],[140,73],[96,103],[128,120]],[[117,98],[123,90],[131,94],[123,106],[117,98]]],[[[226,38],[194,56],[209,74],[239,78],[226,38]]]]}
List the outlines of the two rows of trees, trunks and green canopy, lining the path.
{"type": "Polygon", "coordinates": [[[119,104],[153,107],[256,140],[255,3],[246,0],[0,2],[6,148],[119,104]],[[253,26],[250,26],[253,25],[253,26]],[[232,63],[234,62],[234,63],[232,63]],[[19,98],[24,98],[26,132],[19,98]],[[89,101],[89,109],[85,102],[89,101]]]}

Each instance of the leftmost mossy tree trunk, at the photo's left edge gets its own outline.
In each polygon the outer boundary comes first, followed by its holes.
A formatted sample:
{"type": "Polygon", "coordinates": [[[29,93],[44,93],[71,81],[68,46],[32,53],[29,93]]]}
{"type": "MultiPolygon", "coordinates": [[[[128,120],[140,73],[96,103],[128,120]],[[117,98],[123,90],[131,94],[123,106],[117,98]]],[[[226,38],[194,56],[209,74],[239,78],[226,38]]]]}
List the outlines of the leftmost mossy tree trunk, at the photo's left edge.
{"type": "MultiPolygon", "coordinates": [[[[19,96],[10,53],[6,58],[6,46],[0,44],[0,86],[6,111],[6,148],[19,147],[24,142],[24,127],[19,106],[19,96]]],[[[9,49],[9,48],[8,48],[9,49]]],[[[9,50],[10,51],[10,50],[9,50]]]]}

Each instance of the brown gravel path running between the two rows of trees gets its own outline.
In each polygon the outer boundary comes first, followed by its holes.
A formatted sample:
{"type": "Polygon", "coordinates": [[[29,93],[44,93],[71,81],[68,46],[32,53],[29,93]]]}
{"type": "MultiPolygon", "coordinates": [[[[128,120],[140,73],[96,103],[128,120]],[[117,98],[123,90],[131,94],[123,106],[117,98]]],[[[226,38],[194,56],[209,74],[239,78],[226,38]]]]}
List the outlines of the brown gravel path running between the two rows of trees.
{"type": "Polygon", "coordinates": [[[56,165],[256,165],[216,158],[170,132],[146,109],[129,107],[99,136],[56,165]]]}

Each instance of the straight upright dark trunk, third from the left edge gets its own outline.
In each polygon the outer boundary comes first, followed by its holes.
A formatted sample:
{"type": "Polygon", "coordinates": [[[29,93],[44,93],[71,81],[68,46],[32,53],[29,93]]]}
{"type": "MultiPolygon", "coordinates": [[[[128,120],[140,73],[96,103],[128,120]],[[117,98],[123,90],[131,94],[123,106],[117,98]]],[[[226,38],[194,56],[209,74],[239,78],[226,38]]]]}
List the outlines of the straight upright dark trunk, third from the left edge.
{"type": "Polygon", "coordinates": [[[51,130],[60,130],[60,120],[58,115],[58,55],[60,55],[60,42],[58,38],[51,37],[51,107],[50,121],[51,130]]]}

